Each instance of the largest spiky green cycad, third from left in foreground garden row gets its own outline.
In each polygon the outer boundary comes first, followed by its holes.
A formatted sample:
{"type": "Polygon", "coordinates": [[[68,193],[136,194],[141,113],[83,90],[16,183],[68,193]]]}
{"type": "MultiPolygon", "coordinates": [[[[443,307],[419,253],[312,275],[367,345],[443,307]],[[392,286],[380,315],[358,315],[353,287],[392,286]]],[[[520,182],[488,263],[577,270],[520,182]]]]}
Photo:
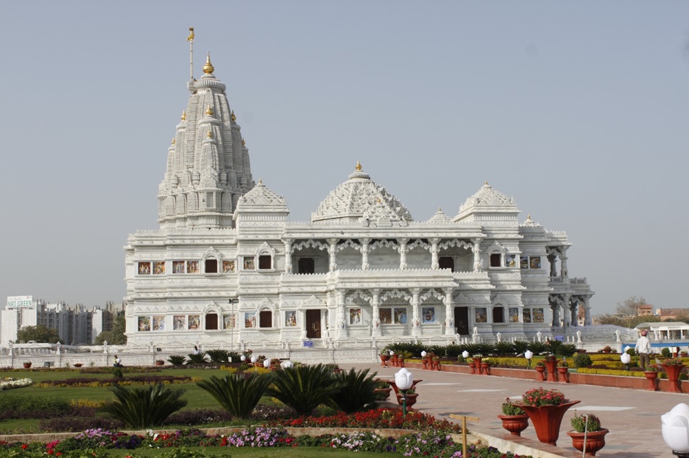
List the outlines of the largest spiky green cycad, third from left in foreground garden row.
{"type": "Polygon", "coordinates": [[[287,404],[299,415],[309,415],[342,390],[342,384],[325,364],[294,366],[274,373],[266,394],[287,404]]]}

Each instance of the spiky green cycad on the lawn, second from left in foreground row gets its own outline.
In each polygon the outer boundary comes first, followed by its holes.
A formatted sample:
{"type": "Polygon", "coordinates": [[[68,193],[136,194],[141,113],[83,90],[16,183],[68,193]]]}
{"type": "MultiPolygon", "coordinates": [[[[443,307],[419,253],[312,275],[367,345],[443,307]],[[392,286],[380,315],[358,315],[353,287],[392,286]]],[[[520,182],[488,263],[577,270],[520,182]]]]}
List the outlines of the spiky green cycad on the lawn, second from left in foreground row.
{"type": "Polygon", "coordinates": [[[250,377],[233,374],[222,379],[210,377],[196,385],[210,393],[230,415],[247,418],[256,408],[271,379],[271,374],[256,374],[250,377]]]}

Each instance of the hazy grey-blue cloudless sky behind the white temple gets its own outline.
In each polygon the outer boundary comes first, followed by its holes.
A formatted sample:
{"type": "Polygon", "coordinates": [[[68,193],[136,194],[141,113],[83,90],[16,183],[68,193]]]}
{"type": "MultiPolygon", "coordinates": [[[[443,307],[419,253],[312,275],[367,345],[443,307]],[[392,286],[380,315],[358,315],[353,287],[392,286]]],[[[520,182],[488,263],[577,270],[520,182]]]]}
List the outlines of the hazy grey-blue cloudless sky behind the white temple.
{"type": "Polygon", "coordinates": [[[594,314],[689,306],[688,2],[14,1],[0,25],[2,304],[123,300],[194,27],[291,221],[357,160],[415,220],[488,180],[568,233],[594,314]]]}

